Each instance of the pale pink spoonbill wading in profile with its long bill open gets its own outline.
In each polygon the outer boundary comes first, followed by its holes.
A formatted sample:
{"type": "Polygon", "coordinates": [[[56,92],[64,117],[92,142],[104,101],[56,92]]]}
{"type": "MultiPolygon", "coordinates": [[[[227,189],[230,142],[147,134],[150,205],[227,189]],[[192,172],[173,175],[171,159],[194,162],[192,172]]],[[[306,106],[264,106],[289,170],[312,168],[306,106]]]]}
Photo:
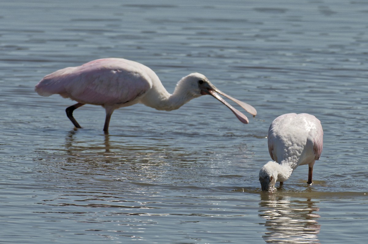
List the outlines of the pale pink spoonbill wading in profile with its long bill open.
{"type": "Polygon", "coordinates": [[[77,101],[66,109],[68,118],[77,128],[81,126],[73,117],[75,109],[86,103],[101,105],[106,110],[105,132],[109,130],[110,117],[117,108],[143,103],[158,110],[170,111],[206,94],[226,105],[245,124],[248,118],[218,94],[238,103],[254,116],[257,113],[251,105],[219,91],[203,74],[191,73],[183,77],[170,94],[152,69],[121,58],[97,59],[81,66],[57,70],[45,76],[35,86],[35,91],[41,96],[60,94],[77,101]]]}

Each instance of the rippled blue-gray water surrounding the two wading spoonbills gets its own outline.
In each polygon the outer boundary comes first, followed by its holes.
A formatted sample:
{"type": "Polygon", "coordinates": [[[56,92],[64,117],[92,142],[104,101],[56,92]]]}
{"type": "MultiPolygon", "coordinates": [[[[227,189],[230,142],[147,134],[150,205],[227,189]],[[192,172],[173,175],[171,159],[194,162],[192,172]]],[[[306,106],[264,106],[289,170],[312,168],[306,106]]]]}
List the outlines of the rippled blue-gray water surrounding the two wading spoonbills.
{"type": "MultiPolygon", "coordinates": [[[[0,243],[365,243],[367,1],[0,3],[0,243]],[[240,123],[211,96],[179,110],[105,110],[41,97],[46,74],[97,58],[149,66],[169,92],[191,72],[258,110],[240,123]],[[259,169],[269,124],[311,113],[325,132],[274,194],[259,169]]],[[[236,108],[238,106],[234,105],[236,108]]]]}

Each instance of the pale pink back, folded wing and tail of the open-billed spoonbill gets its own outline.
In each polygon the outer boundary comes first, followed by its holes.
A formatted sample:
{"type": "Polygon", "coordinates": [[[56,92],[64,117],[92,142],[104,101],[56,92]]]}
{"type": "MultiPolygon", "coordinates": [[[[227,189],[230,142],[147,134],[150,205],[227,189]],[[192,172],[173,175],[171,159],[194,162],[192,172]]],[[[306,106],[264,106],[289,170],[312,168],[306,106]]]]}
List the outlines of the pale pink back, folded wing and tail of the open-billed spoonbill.
{"type": "Polygon", "coordinates": [[[126,59],[98,59],[45,76],[35,87],[38,94],[60,94],[81,103],[122,104],[152,87],[148,67],[126,59]]]}

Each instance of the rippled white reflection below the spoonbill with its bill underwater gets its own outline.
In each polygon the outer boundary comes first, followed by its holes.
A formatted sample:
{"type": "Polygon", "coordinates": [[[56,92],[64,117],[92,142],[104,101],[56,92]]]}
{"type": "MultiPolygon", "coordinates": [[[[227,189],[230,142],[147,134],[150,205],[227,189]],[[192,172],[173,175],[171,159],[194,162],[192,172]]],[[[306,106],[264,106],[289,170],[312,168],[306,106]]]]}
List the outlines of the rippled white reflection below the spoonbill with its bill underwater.
{"type": "Polygon", "coordinates": [[[259,216],[266,219],[266,243],[319,243],[319,208],[311,199],[291,201],[290,197],[261,194],[259,216]]]}

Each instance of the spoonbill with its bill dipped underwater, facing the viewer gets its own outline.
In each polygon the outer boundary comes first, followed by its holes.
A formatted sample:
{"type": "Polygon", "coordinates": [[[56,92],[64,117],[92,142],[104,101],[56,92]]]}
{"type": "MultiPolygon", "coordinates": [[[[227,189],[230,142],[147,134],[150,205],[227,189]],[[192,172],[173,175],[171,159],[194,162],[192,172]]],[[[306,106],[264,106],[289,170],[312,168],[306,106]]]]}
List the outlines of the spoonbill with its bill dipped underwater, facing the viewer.
{"type": "Polygon", "coordinates": [[[307,113],[288,113],[277,117],[268,130],[268,151],[274,161],[259,171],[262,190],[274,190],[276,181],[289,179],[299,166],[308,164],[308,184],[312,183],[313,165],[323,148],[321,122],[307,113]]]}

